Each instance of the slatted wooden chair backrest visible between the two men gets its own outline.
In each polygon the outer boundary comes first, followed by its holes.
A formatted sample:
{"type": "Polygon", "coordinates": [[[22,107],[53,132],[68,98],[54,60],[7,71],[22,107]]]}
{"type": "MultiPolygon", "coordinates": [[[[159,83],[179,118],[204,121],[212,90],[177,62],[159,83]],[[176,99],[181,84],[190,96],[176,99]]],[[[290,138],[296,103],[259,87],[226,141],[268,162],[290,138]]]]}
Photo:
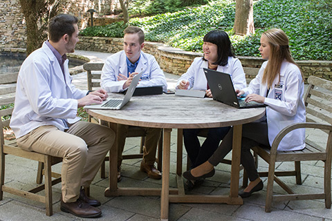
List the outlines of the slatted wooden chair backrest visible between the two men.
{"type": "Polygon", "coordinates": [[[83,69],[86,70],[88,79],[88,90],[100,87],[101,70],[104,63],[86,63],[83,69]]]}

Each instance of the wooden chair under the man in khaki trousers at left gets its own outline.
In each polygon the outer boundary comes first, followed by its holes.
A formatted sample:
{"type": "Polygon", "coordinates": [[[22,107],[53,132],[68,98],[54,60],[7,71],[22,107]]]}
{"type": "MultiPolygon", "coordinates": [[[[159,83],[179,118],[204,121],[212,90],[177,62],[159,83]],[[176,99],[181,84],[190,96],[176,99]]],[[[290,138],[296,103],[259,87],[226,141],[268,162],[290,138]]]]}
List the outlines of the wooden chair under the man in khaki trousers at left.
{"type": "MultiPolygon", "coordinates": [[[[3,77],[1,76],[0,83],[5,84],[12,81],[12,78],[17,79],[17,75],[11,75],[3,77]],[[6,82],[5,82],[6,81],[6,82]]],[[[5,140],[4,136],[4,128],[9,127],[10,116],[12,114],[12,103],[15,100],[15,85],[1,85],[0,87],[0,106],[6,105],[8,108],[0,110],[0,200],[3,199],[3,192],[12,193],[15,195],[19,195],[24,198],[28,198],[30,200],[35,200],[38,202],[43,202],[46,204],[46,215],[53,214],[53,206],[52,206],[52,185],[61,182],[61,177],[58,177],[55,180],[51,179],[51,165],[52,162],[56,161],[55,157],[51,157],[50,155],[44,155],[42,153],[24,151],[23,149],[17,146],[15,138],[12,140],[5,140]],[[15,155],[17,157],[24,157],[30,160],[36,160],[38,162],[42,162],[45,164],[45,184],[39,185],[29,191],[23,191],[21,189],[15,189],[10,186],[10,183],[4,184],[5,181],[5,158],[6,155],[15,155]],[[39,195],[40,191],[45,190],[45,195],[39,195]]]]}

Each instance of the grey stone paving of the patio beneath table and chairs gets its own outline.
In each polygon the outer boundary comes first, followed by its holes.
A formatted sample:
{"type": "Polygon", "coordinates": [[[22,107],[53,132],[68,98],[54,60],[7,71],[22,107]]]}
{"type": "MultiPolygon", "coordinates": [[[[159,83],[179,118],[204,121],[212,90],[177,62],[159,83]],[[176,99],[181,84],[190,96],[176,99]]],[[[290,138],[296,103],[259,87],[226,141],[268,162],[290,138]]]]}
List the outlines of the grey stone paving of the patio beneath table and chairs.
{"type": "MultiPolygon", "coordinates": [[[[93,61],[104,61],[109,55],[100,52],[75,52],[90,57],[93,61]]],[[[174,88],[178,76],[165,73],[169,88],[174,88]]],[[[79,88],[86,88],[86,73],[75,75],[73,83],[79,88]]],[[[323,135],[308,133],[315,140],[323,140],[323,135]]],[[[176,187],[176,130],[172,131],[171,140],[171,175],[170,186],[176,187]]],[[[127,138],[125,152],[137,153],[140,139],[127,138]]],[[[183,151],[183,170],[187,160],[183,151]]],[[[228,158],[230,156],[228,155],[228,158]]],[[[140,160],[124,160],[122,163],[122,181],[119,186],[161,187],[161,180],[152,180],[139,170],[140,160]]],[[[284,171],[291,163],[277,164],[278,171],[284,171]]],[[[107,162],[108,168],[108,162],[107,162]]],[[[61,164],[53,166],[59,172],[61,164]]],[[[267,171],[268,164],[259,160],[259,171],[267,171]]],[[[108,169],[107,169],[108,172],[108,169]]],[[[295,184],[294,177],[285,177],[282,180],[289,184],[294,191],[322,192],[324,184],[324,164],[322,162],[302,162],[302,185],[295,184]]],[[[21,189],[30,189],[36,186],[37,162],[21,159],[19,157],[6,157],[6,183],[19,186],[21,189]]],[[[242,173],[240,179],[242,178],[242,173]]],[[[262,178],[266,184],[266,178],[262,178]]],[[[240,180],[241,184],[242,180],[240,180]]],[[[102,202],[102,217],[98,220],[160,220],[160,197],[149,196],[120,196],[106,198],[104,189],[108,186],[108,179],[101,179],[100,173],[96,175],[91,185],[91,195],[102,202]]],[[[228,194],[230,189],[230,166],[219,164],[216,166],[216,175],[205,180],[192,194],[228,194]]],[[[277,193],[285,193],[277,184],[274,186],[277,193]]],[[[0,201],[0,220],[88,220],[76,218],[74,215],[64,213],[59,209],[61,185],[53,186],[53,211],[50,217],[45,215],[45,206],[42,203],[26,200],[15,195],[4,193],[0,201]]],[[[332,220],[331,209],[325,209],[324,200],[301,200],[291,202],[273,203],[271,213],[265,213],[266,186],[264,190],[254,193],[250,198],[244,199],[241,206],[227,204],[169,204],[169,220],[332,220]]],[[[97,220],[97,219],[96,219],[97,220]]]]}

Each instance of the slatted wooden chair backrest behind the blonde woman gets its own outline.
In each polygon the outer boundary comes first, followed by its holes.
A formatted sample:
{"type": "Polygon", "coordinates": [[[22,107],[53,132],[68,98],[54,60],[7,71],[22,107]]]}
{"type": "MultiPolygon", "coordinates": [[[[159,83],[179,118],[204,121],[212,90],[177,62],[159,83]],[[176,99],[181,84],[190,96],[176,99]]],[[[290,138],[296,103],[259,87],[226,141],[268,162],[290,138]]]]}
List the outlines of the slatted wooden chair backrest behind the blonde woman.
{"type": "Polygon", "coordinates": [[[308,84],[304,95],[306,122],[332,124],[332,81],[310,76],[308,84]]]}

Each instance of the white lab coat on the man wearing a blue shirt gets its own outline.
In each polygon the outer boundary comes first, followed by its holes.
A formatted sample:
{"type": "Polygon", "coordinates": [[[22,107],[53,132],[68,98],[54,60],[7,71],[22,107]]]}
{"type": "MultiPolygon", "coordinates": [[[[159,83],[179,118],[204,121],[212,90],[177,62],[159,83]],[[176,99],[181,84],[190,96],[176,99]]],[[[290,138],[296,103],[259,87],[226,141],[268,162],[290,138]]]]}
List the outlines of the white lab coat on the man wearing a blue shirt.
{"type": "MultiPolygon", "coordinates": [[[[154,56],[140,52],[140,61],[136,67],[135,72],[142,75],[149,76],[149,79],[142,79],[138,87],[146,86],[163,86],[163,90],[167,90],[167,81],[163,70],[160,69],[154,56]]],[[[114,55],[107,57],[107,60],[102,67],[102,76],[100,86],[107,90],[107,92],[118,93],[122,92],[122,86],[125,80],[118,81],[118,75],[127,76],[127,56],[124,50],[117,52],[114,55]]]]}

